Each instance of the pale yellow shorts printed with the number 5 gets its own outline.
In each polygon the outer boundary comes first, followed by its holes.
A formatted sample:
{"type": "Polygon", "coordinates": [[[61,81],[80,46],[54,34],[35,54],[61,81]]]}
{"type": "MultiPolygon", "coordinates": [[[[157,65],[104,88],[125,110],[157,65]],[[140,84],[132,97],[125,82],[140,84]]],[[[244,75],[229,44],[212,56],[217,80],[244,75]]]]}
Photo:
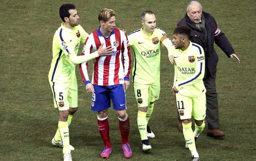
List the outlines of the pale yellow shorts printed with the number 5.
{"type": "Polygon", "coordinates": [[[53,93],[54,108],[68,110],[78,106],[78,87],[76,78],[71,82],[50,82],[53,93]]]}

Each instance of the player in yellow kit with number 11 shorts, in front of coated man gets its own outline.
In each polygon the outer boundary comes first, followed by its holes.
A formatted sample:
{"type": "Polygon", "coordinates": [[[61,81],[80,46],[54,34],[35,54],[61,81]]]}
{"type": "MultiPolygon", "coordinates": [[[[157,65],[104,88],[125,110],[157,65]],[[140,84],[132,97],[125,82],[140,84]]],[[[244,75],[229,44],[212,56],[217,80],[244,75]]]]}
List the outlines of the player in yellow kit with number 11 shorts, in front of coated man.
{"type": "Polygon", "coordinates": [[[200,160],[195,141],[203,131],[206,117],[206,89],[204,87],[204,50],[190,41],[191,28],[179,26],[174,29],[171,53],[174,57],[174,83],[171,93],[176,97],[182,120],[186,148],[192,154],[191,161],[200,160]],[[191,128],[194,117],[195,131],[191,128]]]}

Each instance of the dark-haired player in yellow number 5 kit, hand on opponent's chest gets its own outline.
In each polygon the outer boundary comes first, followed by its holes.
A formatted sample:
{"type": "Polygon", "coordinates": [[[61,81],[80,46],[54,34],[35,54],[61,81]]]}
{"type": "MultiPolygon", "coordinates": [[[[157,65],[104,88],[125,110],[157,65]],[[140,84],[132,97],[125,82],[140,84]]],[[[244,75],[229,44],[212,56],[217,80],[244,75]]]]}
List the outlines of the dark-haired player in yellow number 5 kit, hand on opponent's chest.
{"type": "Polygon", "coordinates": [[[63,4],[59,9],[63,23],[55,32],[52,43],[52,63],[49,82],[53,93],[54,107],[59,110],[58,129],[52,144],[63,147],[64,161],[70,161],[69,124],[78,107],[78,87],[75,65],[112,52],[111,46],[98,49],[90,55],[77,56],[80,42],[85,43],[88,34],[79,25],[79,16],[75,5],[63,4]]]}

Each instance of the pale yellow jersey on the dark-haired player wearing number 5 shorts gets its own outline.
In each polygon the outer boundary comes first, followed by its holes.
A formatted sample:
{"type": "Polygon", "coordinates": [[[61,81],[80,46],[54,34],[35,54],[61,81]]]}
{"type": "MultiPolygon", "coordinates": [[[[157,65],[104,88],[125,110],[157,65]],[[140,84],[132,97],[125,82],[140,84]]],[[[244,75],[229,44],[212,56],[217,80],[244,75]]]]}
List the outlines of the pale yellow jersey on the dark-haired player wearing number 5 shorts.
{"type": "Polygon", "coordinates": [[[49,71],[49,81],[69,82],[75,75],[75,64],[70,61],[69,54],[77,55],[80,42],[85,43],[89,36],[81,25],[77,25],[73,30],[63,26],[55,32],[52,42],[52,63],[49,71]]]}

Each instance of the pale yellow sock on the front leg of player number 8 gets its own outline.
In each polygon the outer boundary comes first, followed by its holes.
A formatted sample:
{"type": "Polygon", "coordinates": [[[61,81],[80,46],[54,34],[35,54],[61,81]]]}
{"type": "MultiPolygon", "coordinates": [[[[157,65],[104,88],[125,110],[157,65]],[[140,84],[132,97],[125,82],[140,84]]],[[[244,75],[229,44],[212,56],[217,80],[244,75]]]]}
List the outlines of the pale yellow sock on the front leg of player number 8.
{"type": "Polygon", "coordinates": [[[147,112],[138,111],[137,123],[138,123],[141,140],[148,139],[146,115],[147,115],[147,112]]]}

